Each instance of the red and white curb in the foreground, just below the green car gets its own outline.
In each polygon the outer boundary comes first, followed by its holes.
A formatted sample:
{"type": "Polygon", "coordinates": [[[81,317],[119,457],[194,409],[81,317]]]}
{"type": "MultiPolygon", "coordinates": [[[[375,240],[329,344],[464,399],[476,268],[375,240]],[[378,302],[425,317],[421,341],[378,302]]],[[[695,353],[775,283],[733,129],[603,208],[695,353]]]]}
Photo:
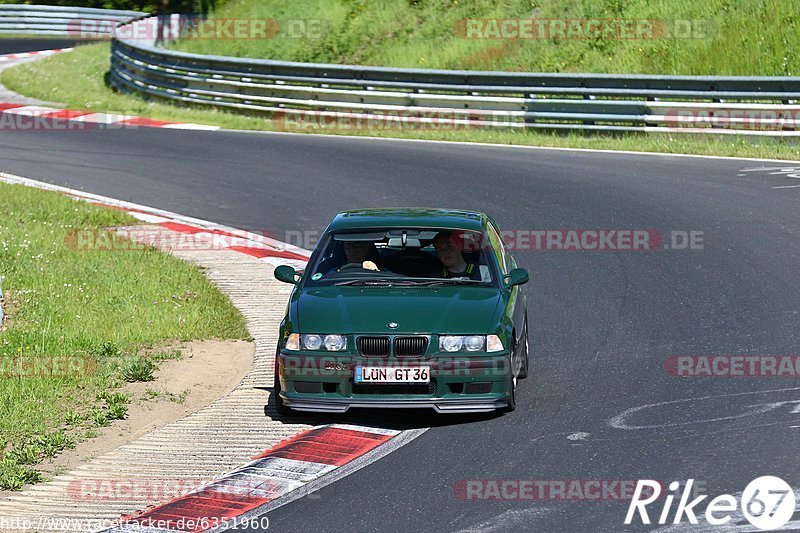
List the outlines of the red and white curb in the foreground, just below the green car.
{"type": "Polygon", "coordinates": [[[268,522],[253,517],[325,474],[373,452],[400,431],[345,424],[320,426],[295,435],[253,461],[168,503],[101,531],[225,531],[268,522]]]}

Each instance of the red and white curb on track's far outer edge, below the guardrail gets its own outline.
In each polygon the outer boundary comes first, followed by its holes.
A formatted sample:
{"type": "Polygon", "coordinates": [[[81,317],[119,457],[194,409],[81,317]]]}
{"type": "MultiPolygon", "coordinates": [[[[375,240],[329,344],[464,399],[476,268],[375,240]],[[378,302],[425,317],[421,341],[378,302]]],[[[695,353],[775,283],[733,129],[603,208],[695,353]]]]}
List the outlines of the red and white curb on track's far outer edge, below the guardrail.
{"type": "Polygon", "coordinates": [[[180,130],[219,130],[190,122],[170,122],[136,115],[93,113],[14,102],[0,102],[0,130],[65,130],[168,128],[180,130]]]}

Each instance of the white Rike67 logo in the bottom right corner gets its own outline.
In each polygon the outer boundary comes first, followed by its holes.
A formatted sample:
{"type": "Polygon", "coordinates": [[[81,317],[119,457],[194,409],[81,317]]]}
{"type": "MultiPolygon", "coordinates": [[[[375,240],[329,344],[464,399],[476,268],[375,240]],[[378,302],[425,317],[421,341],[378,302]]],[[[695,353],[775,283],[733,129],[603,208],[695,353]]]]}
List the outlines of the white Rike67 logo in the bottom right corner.
{"type": "MultiPolygon", "coordinates": [[[[699,509],[696,507],[708,498],[708,495],[704,494],[689,501],[693,495],[693,485],[693,479],[686,481],[675,508],[673,524],[680,524],[684,517],[691,524],[698,523],[699,509]]],[[[664,498],[664,505],[657,517],[658,524],[663,525],[668,522],[679,488],[680,483],[677,481],[669,484],[669,492],[664,498]]],[[[658,500],[661,493],[662,487],[658,481],[639,480],[636,483],[630,506],[628,506],[625,524],[630,525],[637,512],[643,524],[650,524],[647,506],[658,500]],[[643,497],[643,494],[647,494],[647,496],[643,497]]],[[[745,487],[739,500],[731,494],[722,494],[709,501],[704,515],[706,522],[712,526],[727,524],[733,516],[744,515],[747,521],[758,529],[775,530],[785,526],[791,520],[795,511],[795,503],[795,494],[788,483],[779,477],[762,476],[754,479],[745,487]]]]}

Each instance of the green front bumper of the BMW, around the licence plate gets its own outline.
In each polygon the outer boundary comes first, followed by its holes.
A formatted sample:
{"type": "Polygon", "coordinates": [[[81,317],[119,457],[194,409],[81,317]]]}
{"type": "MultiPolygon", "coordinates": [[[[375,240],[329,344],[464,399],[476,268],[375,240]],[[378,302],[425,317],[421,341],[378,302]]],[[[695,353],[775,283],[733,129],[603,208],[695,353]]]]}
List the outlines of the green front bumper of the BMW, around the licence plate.
{"type": "Polygon", "coordinates": [[[379,360],[280,353],[277,367],[281,399],[297,411],[345,413],[356,407],[485,413],[506,407],[511,394],[508,353],[379,360]],[[363,387],[353,382],[356,365],[426,365],[431,368],[431,383],[363,387]]]}

